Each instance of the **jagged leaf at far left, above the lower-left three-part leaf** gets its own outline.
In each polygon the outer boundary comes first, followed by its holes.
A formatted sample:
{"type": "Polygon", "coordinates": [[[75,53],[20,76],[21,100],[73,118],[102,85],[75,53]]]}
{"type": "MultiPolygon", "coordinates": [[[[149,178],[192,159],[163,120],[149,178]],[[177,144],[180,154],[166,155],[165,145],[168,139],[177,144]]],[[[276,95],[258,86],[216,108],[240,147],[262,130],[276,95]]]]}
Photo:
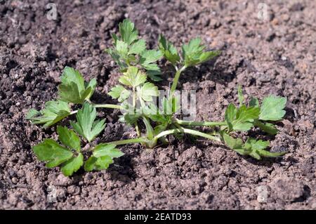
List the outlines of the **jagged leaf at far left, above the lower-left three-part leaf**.
{"type": "Polygon", "coordinates": [[[29,110],[26,119],[33,124],[44,124],[44,127],[51,126],[58,121],[70,115],[70,107],[68,103],[57,100],[45,103],[45,108],[41,111],[34,109],[29,110]]]}

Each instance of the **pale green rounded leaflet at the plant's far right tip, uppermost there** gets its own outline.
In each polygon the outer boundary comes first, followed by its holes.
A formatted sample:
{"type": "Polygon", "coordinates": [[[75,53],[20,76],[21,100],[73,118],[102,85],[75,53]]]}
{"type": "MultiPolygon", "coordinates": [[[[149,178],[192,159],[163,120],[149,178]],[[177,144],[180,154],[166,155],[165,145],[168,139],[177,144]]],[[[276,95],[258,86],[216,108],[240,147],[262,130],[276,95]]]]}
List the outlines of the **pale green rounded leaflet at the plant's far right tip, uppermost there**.
{"type": "Polygon", "coordinates": [[[259,119],[263,121],[278,121],[284,117],[284,107],[287,98],[269,95],[263,99],[259,119]]]}

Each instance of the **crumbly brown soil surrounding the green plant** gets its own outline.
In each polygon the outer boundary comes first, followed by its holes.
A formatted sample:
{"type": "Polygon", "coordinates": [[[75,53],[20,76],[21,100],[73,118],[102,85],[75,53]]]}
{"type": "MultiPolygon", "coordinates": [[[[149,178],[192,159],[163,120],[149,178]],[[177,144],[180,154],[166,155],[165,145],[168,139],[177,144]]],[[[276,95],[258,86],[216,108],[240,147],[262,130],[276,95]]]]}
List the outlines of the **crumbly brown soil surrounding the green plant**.
{"type": "MultiPolygon", "coordinates": [[[[0,209],[316,209],[316,1],[265,1],[268,20],[257,18],[261,1],[60,0],[58,20],[47,20],[48,2],[0,1],[0,209]],[[103,50],[126,17],[150,46],[162,32],[177,46],[200,36],[223,51],[180,80],[197,89],[199,120],[223,119],[237,84],[259,98],[286,96],[271,142],[289,153],[258,162],[187,139],[152,152],[121,147],[124,157],[107,171],[65,178],[46,169],[31,147],[55,138],[55,127],[31,125],[25,113],[56,96],[65,65],[96,77],[93,100],[111,102],[119,74],[103,50]]],[[[164,79],[167,86],[171,73],[164,79]]],[[[134,134],[117,114],[100,110],[108,124],[98,142],[134,134]]]]}

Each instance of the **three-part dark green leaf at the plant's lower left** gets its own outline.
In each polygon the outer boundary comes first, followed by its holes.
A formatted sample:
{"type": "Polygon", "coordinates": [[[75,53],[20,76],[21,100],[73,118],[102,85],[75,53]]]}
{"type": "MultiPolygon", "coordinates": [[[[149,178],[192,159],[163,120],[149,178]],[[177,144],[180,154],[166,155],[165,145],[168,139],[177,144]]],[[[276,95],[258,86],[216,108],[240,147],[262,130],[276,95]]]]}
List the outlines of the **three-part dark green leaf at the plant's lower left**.
{"type": "Polygon", "coordinates": [[[46,162],[46,167],[60,166],[65,176],[72,176],[84,165],[86,171],[107,169],[114,158],[123,153],[113,144],[99,144],[91,148],[93,154],[84,162],[84,152],[77,134],[67,127],[57,127],[58,140],[45,139],[33,147],[34,153],[40,161],[46,162]]]}

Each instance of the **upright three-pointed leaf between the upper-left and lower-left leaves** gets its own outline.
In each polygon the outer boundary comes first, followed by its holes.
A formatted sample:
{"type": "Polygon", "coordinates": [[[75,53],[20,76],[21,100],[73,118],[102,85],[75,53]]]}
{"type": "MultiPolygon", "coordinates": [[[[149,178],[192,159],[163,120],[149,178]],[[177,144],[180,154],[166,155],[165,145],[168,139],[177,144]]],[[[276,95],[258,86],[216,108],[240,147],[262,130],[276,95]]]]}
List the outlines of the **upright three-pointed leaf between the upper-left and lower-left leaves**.
{"type": "Polygon", "coordinates": [[[77,123],[70,121],[74,131],[79,133],[91,142],[98,134],[105,129],[105,120],[96,120],[96,108],[88,103],[84,103],[84,106],[77,112],[77,123]]]}

